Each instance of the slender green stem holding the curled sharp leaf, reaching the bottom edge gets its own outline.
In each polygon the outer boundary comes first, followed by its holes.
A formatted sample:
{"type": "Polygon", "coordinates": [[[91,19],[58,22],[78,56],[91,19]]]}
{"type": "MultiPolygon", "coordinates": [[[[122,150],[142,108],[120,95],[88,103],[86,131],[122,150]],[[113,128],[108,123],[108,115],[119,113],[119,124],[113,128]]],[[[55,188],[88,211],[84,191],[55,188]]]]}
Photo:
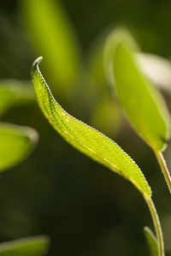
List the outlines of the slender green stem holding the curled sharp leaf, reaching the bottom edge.
{"type": "Polygon", "coordinates": [[[159,221],[159,217],[156,212],[156,207],[151,198],[145,198],[145,201],[149,207],[150,215],[152,217],[152,220],[153,220],[153,223],[154,223],[154,226],[156,229],[156,238],[157,238],[157,244],[158,244],[158,256],[164,256],[162,228],[161,228],[161,223],[159,221]]]}

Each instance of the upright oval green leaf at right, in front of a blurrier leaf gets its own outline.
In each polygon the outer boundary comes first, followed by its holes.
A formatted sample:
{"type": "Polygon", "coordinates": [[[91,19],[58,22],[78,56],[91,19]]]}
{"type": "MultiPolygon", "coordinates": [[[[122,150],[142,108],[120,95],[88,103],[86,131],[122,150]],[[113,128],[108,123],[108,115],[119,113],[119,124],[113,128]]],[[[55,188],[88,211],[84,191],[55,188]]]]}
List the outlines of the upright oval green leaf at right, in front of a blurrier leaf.
{"type": "Polygon", "coordinates": [[[168,110],[162,95],[139,71],[131,51],[119,44],[114,56],[115,89],[137,133],[161,151],[170,134],[168,110]]]}

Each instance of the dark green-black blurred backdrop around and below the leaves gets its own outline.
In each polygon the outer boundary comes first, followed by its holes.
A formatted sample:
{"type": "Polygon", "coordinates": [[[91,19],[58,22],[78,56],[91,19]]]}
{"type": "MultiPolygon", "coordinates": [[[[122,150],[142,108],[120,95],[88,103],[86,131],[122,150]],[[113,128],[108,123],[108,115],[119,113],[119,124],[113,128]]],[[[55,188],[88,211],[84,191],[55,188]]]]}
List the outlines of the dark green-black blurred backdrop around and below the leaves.
{"type": "MultiPolygon", "coordinates": [[[[93,39],[114,24],[130,28],[143,51],[171,57],[170,1],[65,0],[62,4],[84,56],[93,39]]],[[[29,80],[36,57],[18,1],[1,0],[0,79],[29,80]]],[[[85,113],[79,117],[89,122],[85,113]]],[[[27,160],[0,176],[0,241],[45,234],[51,239],[50,256],[150,255],[143,234],[145,225],[152,227],[150,213],[129,182],[76,152],[50,127],[36,103],[16,105],[3,121],[36,128],[40,139],[27,160]]],[[[126,121],[112,139],[139,164],[150,183],[167,256],[171,255],[171,201],[153,153],[126,121]]]]}

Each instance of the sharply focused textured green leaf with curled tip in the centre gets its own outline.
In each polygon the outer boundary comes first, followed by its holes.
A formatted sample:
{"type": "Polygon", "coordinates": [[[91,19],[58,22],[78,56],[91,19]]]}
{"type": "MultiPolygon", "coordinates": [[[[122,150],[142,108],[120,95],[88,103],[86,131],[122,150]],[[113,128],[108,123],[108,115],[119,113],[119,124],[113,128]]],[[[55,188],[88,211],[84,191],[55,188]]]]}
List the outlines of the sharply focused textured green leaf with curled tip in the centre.
{"type": "Polygon", "coordinates": [[[80,152],[124,176],[144,194],[145,198],[150,197],[150,187],[132,158],[113,140],[69,115],[56,103],[49,86],[39,71],[38,63],[41,59],[42,57],[39,57],[33,63],[32,84],[39,107],[51,125],[80,152]]]}

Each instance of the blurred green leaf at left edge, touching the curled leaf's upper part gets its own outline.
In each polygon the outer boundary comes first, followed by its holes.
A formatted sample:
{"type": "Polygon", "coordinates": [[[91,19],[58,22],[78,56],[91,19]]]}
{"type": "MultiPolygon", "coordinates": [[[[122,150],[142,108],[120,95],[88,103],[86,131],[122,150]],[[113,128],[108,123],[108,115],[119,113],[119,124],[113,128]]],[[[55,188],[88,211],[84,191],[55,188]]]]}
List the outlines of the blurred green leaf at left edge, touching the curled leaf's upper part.
{"type": "Polygon", "coordinates": [[[32,86],[28,81],[0,80],[0,116],[15,102],[28,103],[34,99],[32,86]]]}

